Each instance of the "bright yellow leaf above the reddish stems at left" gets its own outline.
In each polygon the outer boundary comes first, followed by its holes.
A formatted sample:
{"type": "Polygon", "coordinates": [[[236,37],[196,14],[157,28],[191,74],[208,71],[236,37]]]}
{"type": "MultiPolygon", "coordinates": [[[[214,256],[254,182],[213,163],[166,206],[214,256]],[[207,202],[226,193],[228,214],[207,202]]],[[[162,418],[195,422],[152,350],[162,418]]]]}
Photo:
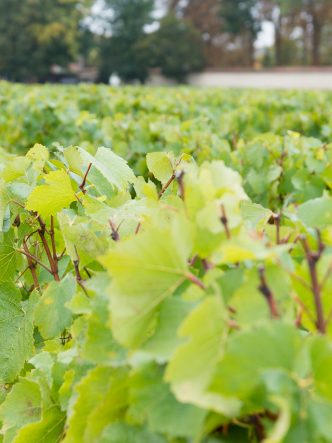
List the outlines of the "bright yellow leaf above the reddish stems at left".
{"type": "Polygon", "coordinates": [[[37,186],[26,203],[28,211],[35,211],[47,218],[66,208],[75,200],[75,193],[68,174],[63,169],[43,176],[44,185],[37,186]]]}

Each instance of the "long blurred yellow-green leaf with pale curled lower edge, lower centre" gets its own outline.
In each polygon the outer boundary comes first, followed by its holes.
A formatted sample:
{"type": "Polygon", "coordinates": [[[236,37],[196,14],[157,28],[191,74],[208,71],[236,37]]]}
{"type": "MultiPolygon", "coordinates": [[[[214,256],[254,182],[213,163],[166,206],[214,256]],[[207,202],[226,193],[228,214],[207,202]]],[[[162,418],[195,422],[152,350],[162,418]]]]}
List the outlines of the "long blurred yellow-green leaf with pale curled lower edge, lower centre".
{"type": "Polygon", "coordinates": [[[223,305],[217,297],[205,299],[190,313],[179,329],[180,336],[188,340],[171,358],[165,379],[179,401],[232,416],[239,410],[240,403],[208,392],[221,357],[224,316],[223,305]]]}

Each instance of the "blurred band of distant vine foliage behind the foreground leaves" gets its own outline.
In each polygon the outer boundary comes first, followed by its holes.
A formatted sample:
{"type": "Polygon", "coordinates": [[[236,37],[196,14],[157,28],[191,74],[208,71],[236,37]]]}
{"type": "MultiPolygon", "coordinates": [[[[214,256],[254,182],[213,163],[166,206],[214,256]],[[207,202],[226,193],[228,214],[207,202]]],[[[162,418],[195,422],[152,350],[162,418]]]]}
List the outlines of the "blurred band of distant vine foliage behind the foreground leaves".
{"type": "Polygon", "coordinates": [[[0,146],[6,151],[24,153],[36,142],[49,150],[55,144],[111,146],[139,174],[145,170],[142,155],[151,151],[185,151],[200,161],[222,155],[231,165],[230,152],[236,156],[258,134],[285,136],[290,129],[323,142],[332,134],[332,94],[320,91],[1,82],[0,102],[0,146]]]}

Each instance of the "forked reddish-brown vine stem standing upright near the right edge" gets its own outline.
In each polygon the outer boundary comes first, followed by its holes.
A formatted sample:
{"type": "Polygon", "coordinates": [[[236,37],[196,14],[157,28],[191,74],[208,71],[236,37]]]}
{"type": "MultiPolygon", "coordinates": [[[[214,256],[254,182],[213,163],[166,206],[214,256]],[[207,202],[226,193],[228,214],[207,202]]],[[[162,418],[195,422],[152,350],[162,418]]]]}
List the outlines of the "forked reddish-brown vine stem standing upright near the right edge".
{"type": "Polygon", "coordinates": [[[311,290],[314,297],[314,303],[316,308],[316,328],[321,334],[325,334],[326,332],[326,322],[324,319],[324,310],[321,296],[321,286],[318,281],[318,273],[317,273],[317,263],[322,256],[324,251],[324,244],[321,239],[320,232],[317,231],[318,236],[318,250],[313,251],[308,244],[308,241],[305,237],[301,238],[301,243],[304,249],[305,258],[308,264],[310,280],[311,280],[311,290]]]}

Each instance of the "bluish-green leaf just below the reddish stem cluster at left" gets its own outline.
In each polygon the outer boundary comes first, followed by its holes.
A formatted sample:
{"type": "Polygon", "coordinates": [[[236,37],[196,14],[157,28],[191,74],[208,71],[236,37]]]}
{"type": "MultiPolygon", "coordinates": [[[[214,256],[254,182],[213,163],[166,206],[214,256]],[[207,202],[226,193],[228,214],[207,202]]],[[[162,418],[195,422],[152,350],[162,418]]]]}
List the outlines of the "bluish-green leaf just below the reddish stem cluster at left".
{"type": "Polygon", "coordinates": [[[72,323],[72,312],[65,306],[76,291],[75,278],[68,274],[61,282],[52,282],[35,310],[35,323],[44,338],[59,337],[72,323]]]}

